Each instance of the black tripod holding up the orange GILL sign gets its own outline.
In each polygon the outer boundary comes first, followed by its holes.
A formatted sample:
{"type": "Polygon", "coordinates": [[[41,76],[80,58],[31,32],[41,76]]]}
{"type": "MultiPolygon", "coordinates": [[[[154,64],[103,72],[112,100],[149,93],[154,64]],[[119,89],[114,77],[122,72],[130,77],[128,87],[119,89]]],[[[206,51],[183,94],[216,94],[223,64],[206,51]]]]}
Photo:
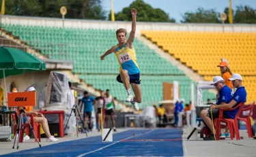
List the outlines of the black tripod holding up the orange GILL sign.
{"type": "MultiPolygon", "coordinates": [[[[25,111],[24,111],[23,109],[21,109],[21,110],[20,110],[20,117],[19,117],[19,119],[18,119],[18,124],[17,124],[18,126],[17,126],[17,130],[16,130],[16,134],[15,134],[15,137],[14,137],[14,145],[13,145],[12,149],[14,149],[17,134],[18,134],[17,149],[18,149],[19,138],[21,138],[20,136],[23,136],[23,134],[20,134],[20,128],[21,128],[21,129],[24,128],[23,115],[25,115],[25,117],[27,118],[27,115],[26,115],[25,111]]],[[[28,119],[28,118],[27,118],[27,119],[28,119]]],[[[28,119],[28,120],[29,120],[29,119],[28,119]]],[[[29,121],[29,126],[30,126],[30,129],[33,131],[33,128],[32,128],[32,126],[31,126],[31,124],[30,124],[30,121],[29,121]]],[[[33,134],[34,134],[35,138],[37,139],[36,141],[38,141],[38,137],[36,137],[34,131],[33,131],[33,134]]],[[[39,147],[41,147],[39,141],[38,141],[38,145],[39,145],[39,147]]]]}

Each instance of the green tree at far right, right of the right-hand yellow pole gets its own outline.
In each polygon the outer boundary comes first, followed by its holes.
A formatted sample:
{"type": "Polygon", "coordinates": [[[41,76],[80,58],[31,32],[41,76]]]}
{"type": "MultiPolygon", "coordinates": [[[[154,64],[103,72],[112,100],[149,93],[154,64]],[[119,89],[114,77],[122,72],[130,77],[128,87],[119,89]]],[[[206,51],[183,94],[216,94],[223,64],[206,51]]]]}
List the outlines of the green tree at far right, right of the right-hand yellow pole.
{"type": "Polygon", "coordinates": [[[248,5],[237,6],[236,13],[233,18],[234,23],[256,23],[256,10],[248,5]]]}

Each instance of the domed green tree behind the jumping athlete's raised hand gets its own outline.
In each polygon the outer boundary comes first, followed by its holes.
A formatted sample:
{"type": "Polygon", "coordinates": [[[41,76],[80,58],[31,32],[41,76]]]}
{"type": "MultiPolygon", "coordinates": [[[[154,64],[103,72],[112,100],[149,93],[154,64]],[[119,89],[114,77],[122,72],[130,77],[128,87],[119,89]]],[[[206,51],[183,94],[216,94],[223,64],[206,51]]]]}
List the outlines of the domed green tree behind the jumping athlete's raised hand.
{"type": "MultiPolygon", "coordinates": [[[[122,12],[117,12],[115,20],[132,20],[132,15],[130,14],[132,8],[137,9],[137,21],[175,23],[175,19],[170,18],[169,14],[159,8],[152,8],[151,5],[143,0],[135,0],[129,7],[123,8],[122,12]]],[[[111,13],[109,13],[109,20],[111,20],[111,13]]]]}

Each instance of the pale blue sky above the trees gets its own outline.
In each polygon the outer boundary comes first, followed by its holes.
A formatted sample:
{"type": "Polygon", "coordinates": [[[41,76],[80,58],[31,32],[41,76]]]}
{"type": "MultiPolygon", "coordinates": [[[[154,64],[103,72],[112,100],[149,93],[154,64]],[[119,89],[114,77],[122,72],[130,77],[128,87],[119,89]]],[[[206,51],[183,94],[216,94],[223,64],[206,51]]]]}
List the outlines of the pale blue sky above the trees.
{"type": "MultiPolygon", "coordinates": [[[[122,8],[128,7],[134,0],[113,0],[114,11],[120,12],[122,8]]],[[[182,20],[182,14],[187,11],[197,10],[202,7],[205,9],[215,9],[217,12],[223,12],[224,8],[229,7],[229,0],[144,0],[145,3],[152,5],[153,8],[160,8],[167,12],[170,17],[175,18],[176,23],[182,20]]],[[[104,10],[111,10],[111,0],[102,0],[104,10]]],[[[237,5],[250,5],[256,9],[256,0],[233,0],[232,7],[236,10],[237,5]]],[[[139,12],[139,10],[138,10],[139,12]]]]}

